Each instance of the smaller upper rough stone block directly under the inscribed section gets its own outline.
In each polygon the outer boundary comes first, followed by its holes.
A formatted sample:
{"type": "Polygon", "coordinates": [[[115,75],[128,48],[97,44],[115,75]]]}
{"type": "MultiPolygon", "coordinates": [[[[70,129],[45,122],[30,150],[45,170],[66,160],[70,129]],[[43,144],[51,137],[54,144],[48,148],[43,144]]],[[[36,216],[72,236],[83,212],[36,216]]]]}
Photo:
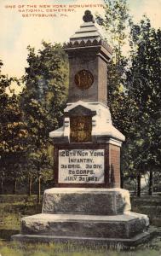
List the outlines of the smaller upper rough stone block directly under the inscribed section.
{"type": "Polygon", "coordinates": [[[55,188],[45,190],[42,212],[115,215],[130,209],[125,189],[55,188]]]}

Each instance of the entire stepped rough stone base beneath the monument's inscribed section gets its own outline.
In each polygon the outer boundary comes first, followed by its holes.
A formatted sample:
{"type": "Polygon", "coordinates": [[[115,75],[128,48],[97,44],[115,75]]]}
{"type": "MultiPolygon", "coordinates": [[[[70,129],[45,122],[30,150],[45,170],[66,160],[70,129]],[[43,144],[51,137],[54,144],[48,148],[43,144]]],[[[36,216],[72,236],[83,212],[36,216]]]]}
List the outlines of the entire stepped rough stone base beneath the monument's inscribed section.
{"type": "Polygon", "coordinates": [[[47,189],[43,213],[22,218],[14,241],[135,245],[149,236],[147,215],[130,212],[124,189],[47,189]]]}

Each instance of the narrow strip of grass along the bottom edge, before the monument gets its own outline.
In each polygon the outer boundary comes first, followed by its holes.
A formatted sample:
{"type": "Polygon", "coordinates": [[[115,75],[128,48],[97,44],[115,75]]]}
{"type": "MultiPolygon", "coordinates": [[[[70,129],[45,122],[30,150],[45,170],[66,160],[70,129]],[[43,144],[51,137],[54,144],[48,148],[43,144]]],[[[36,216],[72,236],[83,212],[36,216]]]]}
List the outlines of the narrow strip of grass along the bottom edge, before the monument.
{"type": "Polygon", "coordinates": [[[63,244],[20,244],[15,242],[1,242],[0,253],[2,256],[160,256],[161,241],[159,238],[131,248],[129,251],[118,251],[109,248],[73,247],[63,244]]]}

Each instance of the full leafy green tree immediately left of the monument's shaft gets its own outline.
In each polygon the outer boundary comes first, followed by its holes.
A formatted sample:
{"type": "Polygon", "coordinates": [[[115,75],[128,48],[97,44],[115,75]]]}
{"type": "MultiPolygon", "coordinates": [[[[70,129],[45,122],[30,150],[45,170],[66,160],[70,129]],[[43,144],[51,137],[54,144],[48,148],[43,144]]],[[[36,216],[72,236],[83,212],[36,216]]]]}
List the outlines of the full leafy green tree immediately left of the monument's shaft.
{"type": "Polygon", "coordinates": [[[61,45],[42,44],[43,48],[37,53],[34,48],[28,47],[25,88],[21,94],[21,107],[29,133],[28,161],[32,163],[28,172],[30,183],[34,165],[36,176],[43,177],[44,150],[49,151],[49,131],[58,128],[62,122],[68,80],[67,58],[61,45]]]}

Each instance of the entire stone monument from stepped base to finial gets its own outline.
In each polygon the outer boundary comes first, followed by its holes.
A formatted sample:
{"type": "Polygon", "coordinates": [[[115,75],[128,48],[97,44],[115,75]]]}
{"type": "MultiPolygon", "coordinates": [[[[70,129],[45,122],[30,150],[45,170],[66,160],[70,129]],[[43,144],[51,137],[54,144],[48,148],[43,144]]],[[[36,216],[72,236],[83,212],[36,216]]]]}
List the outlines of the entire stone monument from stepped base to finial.
{"type": "Polygon", "coordinates": [[[42,213],[22,218],[18,241],[78,241],[134,245],[148,236],[146,215],[130,212],[129,191],[120,189],[124,135],[107,107],[106,63],[112,49],[90,11],[65,44],[69,95],[64,125],[51,131],[55,188],[43,196],[42,213]]]}

